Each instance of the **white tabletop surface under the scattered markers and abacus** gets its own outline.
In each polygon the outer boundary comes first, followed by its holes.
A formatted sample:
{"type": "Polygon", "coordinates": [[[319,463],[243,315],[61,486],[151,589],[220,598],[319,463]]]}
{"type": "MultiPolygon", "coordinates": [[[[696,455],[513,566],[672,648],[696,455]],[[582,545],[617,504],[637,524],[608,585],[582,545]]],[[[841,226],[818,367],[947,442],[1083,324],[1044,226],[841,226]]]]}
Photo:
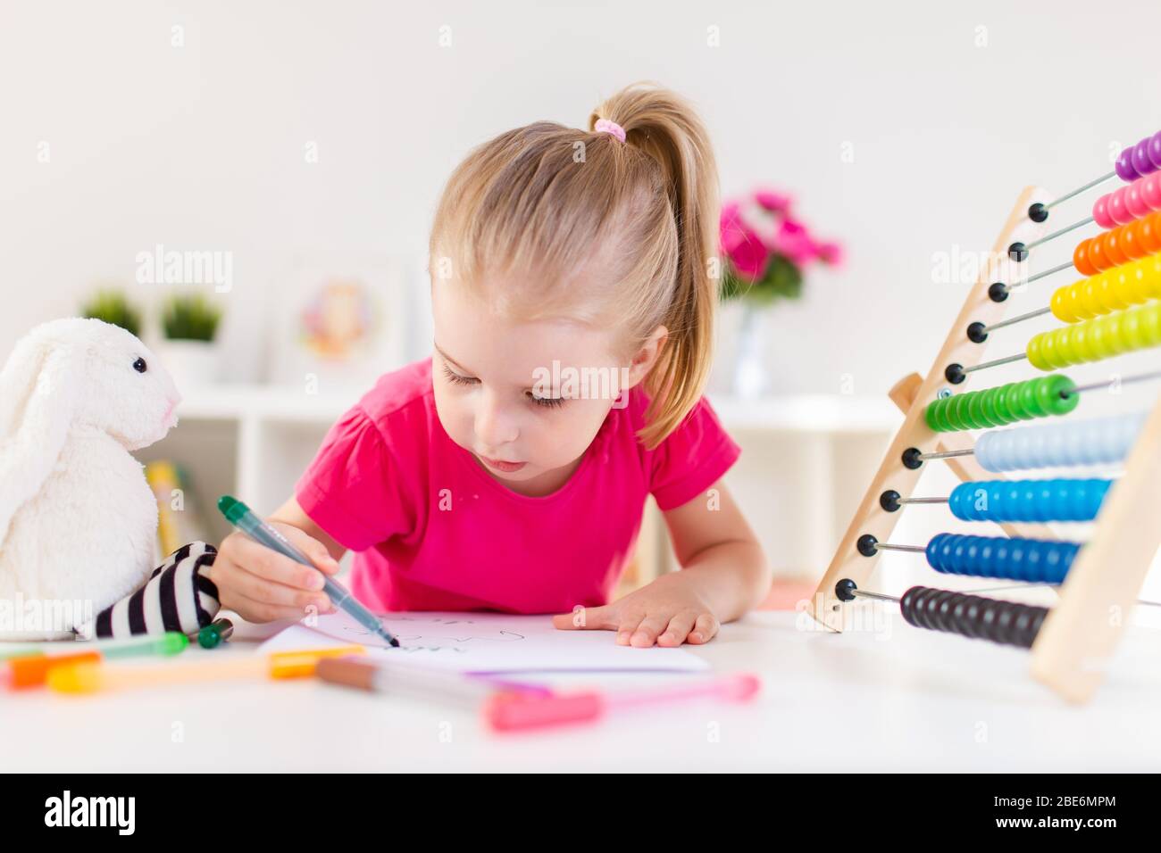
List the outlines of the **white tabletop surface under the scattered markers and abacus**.
{"type": "MultiPolygon", "coordinates": [[[[2,760],[8,772],[1161,768],[1156,628],[1130,628],[1094,702],[1072,707],[1031,680],[1021,650],[922,631],[897,614],[886,639],[800,630],[799,620],[755,613],[687,646],[719,671],[762,675],[763,693],[744,706],[675,704],[498,736],[467,710],[315,680],[37,691],[0,699],[2,760]]],[[[237,639],[185,655],[253,649],[237,639]]]]}

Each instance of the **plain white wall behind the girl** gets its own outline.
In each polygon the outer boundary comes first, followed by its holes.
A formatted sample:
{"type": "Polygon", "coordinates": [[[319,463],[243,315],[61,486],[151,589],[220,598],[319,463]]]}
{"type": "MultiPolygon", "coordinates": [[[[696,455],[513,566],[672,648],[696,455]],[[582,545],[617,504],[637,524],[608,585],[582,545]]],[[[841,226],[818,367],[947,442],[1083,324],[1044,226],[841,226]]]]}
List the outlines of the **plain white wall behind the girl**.
{"type": "Polygon", "coordinates": [[[780,388],[837,392],[849,374],[879,393],[925,367],[959,305],[933,252],[989,246],[1022,185],[1070,188],[1161,126],[1159,30],[1153,0],[5,0],[0,349],[94,283],[131,282],[139,251],[225,250],[228,344],[258,378],[295,252],[418,259],[468,147],[533,120],[579,126],[652,78],[701,106],[727,194],[784,186],[848,245],[846,268],[776,318],[780,388]]]}

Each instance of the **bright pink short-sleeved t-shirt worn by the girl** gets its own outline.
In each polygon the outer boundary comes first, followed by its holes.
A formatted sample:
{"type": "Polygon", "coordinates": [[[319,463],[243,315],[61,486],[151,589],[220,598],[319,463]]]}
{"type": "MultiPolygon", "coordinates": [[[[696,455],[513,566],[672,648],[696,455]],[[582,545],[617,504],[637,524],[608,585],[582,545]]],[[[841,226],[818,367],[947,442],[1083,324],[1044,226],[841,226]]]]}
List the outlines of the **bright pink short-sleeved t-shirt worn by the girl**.
{"type": "Polygon", "coordinates": [[[607,603],[648,494],[705,492],[741,449],[702,398],[655,450],[634,433],[648,398],[610,410],[572,477],[533,498],[493,479],[444,432],[431,357],[380,377],[331,427],[298,504],[356,551],[351,588],[374,610],[568,613],[607,603]]]}

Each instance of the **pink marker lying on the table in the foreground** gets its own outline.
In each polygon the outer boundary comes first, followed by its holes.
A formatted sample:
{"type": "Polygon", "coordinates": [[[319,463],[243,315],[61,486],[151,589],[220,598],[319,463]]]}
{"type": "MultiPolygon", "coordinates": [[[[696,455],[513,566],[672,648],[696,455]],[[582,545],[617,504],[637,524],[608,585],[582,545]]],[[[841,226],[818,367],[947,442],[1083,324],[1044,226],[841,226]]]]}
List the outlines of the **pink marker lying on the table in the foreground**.
{"type": "Polygon", "coordinates": [[[497,693],[484,703],[484,720],[495,731],[518,731],[542,725],[592,722],[611,710],[688,699],[748,702],[758,693],[757,675],[735,673],[693,684],[669,685],[650,691],[553,693],[549,695],[497,693]]]}

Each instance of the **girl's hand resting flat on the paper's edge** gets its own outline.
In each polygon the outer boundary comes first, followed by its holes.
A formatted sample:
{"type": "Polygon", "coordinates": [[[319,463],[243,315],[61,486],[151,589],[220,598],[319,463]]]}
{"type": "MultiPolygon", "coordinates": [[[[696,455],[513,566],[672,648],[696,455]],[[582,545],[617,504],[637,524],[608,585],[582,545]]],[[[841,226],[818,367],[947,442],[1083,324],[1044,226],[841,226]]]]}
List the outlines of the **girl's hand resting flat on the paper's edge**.
{"type": "Polygon", "coordinates": [[[553,616],[553,624],[561,629],[616,631],[618,645],[639,649],[654,643],[708,643],[720,628],[717,617],[682,572],[663,574],[611,605],[561,613],[553,616]]]}

